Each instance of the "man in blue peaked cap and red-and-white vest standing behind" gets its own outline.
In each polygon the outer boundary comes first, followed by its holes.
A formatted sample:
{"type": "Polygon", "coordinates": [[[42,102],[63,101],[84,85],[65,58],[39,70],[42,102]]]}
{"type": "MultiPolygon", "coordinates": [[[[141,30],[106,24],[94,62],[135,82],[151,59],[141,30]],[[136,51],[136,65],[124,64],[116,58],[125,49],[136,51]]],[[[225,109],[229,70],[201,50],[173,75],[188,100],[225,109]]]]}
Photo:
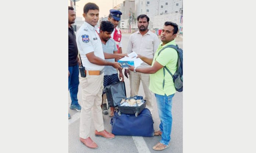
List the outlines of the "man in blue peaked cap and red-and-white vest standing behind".
{"type": "Polygon", "coordinates": [[[108,20],[114,25],[114,31],[111,34],[111,38],[113,38],[117,44],[118,53],[122,53],[122,33],[121,30],[117,28],[118,22],[121,20],[122,12],[114,9],[109,10],[109,12],[108,20]]]}

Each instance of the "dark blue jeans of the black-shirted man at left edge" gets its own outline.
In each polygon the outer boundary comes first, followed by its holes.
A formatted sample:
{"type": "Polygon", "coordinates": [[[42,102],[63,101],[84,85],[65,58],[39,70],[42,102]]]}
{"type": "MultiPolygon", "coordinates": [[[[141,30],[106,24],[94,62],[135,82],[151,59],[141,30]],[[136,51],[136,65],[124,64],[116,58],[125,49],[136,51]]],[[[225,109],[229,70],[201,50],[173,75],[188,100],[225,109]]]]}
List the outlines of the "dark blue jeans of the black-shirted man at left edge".
{"type": "Polygon", "coordinates": [[[68,89],[70,91],[71,105],[78,105],[77,93],[79,85],[79,66],[69,66],[70,76],[68,77],[68,89]]]}

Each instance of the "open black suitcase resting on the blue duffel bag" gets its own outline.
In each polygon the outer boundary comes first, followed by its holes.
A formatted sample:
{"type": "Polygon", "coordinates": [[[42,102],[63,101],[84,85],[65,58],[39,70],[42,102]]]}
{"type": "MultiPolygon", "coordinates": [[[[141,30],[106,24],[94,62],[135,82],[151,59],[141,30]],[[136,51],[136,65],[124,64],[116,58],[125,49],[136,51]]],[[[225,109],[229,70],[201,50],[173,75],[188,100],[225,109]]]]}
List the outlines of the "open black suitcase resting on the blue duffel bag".
{"type": "Polygon", "coordinates": [[[110,107],[117,107],[118,108],[118,115],[120,116],[121,113],[125,114],[135,114],[137,117],[139,113],[146,107],[146,100],[145,102],[138,107],[127,107],[127,106],[120,106],[120,102],[123,98],[126,98],[126,90],[125,90],[125,83],[124,82],[117,82],[113,83],[112,85],[106,86],[104,89],[106,92],[107,101],[110,107]]]}

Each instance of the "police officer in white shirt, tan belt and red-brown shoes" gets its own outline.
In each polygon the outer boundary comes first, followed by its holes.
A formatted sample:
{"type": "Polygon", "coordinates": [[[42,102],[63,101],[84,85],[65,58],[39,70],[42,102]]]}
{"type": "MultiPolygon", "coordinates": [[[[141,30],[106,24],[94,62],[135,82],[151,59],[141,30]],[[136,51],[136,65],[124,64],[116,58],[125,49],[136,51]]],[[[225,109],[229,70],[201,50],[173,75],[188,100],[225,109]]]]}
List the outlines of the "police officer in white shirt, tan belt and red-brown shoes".
{"type": "Polygon", "coordinates": [[[99,7],[95,3],[87,3],[83,7],[84,24],[77,32],[77,46],[82,64],[86,70],[86,77],[81,78],[83,89],[82,110],[80,117],[80,141],[87,147],[96,149],[97,144],[89,137],[91,126],[91,111],[95,124],[95,135],[112,139],[115,137],[104,130],[102,108],[103,68],[113,66],[121,68],[117,62],[104,60],[102,42],[96,32],[99,20],[99,7]]]}

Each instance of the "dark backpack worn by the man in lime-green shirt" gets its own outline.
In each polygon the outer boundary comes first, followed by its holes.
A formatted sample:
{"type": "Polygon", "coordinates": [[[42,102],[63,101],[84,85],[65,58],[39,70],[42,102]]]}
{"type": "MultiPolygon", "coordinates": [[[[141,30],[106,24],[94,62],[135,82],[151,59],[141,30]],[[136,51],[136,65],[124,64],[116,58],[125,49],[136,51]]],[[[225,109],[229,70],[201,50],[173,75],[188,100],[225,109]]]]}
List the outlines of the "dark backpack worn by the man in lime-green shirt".
{"type": "MultiPolygon", "coordinates": [[[[163,51],[166,48],[173,48],[177,51],[178,61],[177,61],[177,71],[175,71],[174,74],[171,74],[170,70],[168,70],[168,68],[166,66],[164,66],[164,68],[163,68],[164,76],[165,76],[165,70],[166,70],[173,77],[173,82],[174,82],[176,91],[182,92],[183,91],[183,50],[181,48],[179,48],[178,45],[176,45],[176,46],[168,45],[168,46],[165,46],[164,48],[162,48],[158,52],[158,56],[161,53],[161,51],[163,51]]],[[[163,81],[163,89],[164,89],[164,81],[163,81]]]]}

